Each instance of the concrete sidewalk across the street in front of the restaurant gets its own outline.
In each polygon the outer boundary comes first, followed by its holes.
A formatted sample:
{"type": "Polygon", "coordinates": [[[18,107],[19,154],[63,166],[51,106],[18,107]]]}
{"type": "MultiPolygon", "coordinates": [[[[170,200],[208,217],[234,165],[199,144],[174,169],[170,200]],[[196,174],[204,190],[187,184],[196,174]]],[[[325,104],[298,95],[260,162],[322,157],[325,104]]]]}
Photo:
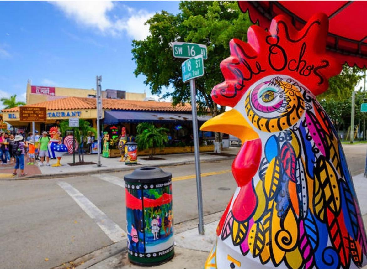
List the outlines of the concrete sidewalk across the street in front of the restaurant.
{"type": "MultiPolygon", "coordinates": [[[[211,162],[219,161],[228,158],[234,159],[240,148],[230,147],[222,151],[221,155],[214,155],[212,152],[202,152],[200,153],[200,162],[211,162]]],[[[86,154],[84,155],[84,162],[93,162],[95,164],[91,165],[77,165],[70,166],[69,163],[73,163],[73,155],[64,155],[61,158],[62,166],[52,167],[34,165],[32,172],[30,171],[26,177],[10,177],[7,174],[1,176],[0,180],[9,179],[31,179],[31,178],[56,178],[56,177],[67,177],[67,176],[77,176],[85,174],[95,174],[95,173],[108,173],[108,172],[120,172],[126,170],[135,169],[135,167],[141,166],[168,166],[168,165],[185,165],[195,163],[195,158],[193,153],[181,153],[181,154],[167,154],[167,155],[154,155],[155,158],[160,158],[160,160],[145,160],[148,156],[138,157],[138,165],[125,165],[124,162],[119,162],[120,158],[103,158],[101,156],[101,167],[97,166],[98,156],[97,154],[86,154]]],[[[78,155],[75,156],[75,162],[79,161],[78,155]]],[[[56,163],[55,159],[50,160],[50,165],[56,163]]],[[[10,167],[9,167],[10,168],[10,167]]],[[[26,171],[27,172],[27,171],[26,171]]]]}

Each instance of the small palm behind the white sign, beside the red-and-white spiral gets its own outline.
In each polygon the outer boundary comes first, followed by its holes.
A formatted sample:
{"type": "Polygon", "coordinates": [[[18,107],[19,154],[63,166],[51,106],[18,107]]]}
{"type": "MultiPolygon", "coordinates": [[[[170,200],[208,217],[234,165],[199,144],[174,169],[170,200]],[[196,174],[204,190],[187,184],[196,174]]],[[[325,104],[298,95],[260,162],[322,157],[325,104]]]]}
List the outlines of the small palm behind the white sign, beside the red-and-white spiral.
{"type": "Polygon", "coordinates": [[[65,136],[66,131],[74,131],[74,136],[79,142],[79,162],[84,162],[83,145],[87,142],[87,137],[89,133],[93,133],[94,136],[97,137],[97,130],[91,127],[90,123],[88,121],[85,121],[84,119],[79,119],[79,127],[69,127],[69,121],[66,119],[61,121],[59,126],[62,136],[65,136]]]}

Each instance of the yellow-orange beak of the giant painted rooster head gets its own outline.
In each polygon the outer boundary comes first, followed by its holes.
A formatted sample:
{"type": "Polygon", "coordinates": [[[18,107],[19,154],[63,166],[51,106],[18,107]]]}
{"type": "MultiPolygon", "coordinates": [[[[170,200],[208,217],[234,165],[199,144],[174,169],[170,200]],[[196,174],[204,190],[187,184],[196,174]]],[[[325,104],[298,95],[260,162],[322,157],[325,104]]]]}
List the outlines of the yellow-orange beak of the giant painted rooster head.
{"type": "Polygon", "coordinates": [[[258,133],[252,129],[242,114],[234,108],[204,122],[200,130],[232,134],[241,139],[242,144],[245,141],[259,138],[258,133]]]}

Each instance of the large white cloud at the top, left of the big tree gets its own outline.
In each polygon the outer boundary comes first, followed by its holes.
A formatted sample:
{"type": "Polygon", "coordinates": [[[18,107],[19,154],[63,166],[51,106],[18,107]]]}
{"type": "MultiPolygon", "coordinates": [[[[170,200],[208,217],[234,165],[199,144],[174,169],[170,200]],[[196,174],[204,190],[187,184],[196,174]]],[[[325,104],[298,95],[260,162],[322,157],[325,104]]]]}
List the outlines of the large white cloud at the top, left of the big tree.
{"type": "Polygon", "coordinates": [[[112,1],[50,1],[62,10],[66,16],[75,20],[79,25],[98,29],[100,33],[112,36],[125,32],[127,36],[143,40],[149,35],[149,26],[144,23],[154,15],[145,10],[135,11],[124,4],[114,4],[112,1]],[[119,18],[108,16],[117,5],[127,11],[128,16],[119,18]]]}

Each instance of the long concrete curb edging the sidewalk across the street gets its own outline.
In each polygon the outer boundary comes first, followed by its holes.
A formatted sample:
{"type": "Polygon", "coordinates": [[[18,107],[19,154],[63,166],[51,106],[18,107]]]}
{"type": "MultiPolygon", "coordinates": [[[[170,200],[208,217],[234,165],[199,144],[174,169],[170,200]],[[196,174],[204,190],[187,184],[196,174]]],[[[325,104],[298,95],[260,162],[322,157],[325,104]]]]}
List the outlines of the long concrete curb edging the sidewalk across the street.
{"type": "MultiPolygon", "coordinates": [[[[222,161],[227,159],[235,159],[236,156],[218,156],[212,159],[203,160],[200,161],[200,163],[205,162],[215,162],[215,161],[222,161]]],[[[194,164],[195,160],[192,161],[178,161],[178,162],[171,162],[171,163],[157,163],[155,165],[144,165],[147,167],[153,167],[153,166],[159,166],[159,167],[165,167],[165,166],[175,166],[175,165],[190,165],[194,164]]],[[[142,164],[134,165],[134,166],[128,166],[128,167],[120,167],[120,168],[105,168],[105,169],[99,169],[94,171],[81,171],[81,172],[69,172],[69,173],[59,173],[59,174],[39,174],[39,175],[32,175],[28,177],[21,177],[21,178],[0,178],[0,181],[13,181],[13,180],[33,180],[33,179],[52,179],[52,178],[62,178],[62,177],[69,177],[69,176],[85,176],[89,174],[102,174],[102,173],[115,173],[115,172],[123,172],[123,171],[129,171],[134,170],[134,167],[141,167],[142,164]]]]}

